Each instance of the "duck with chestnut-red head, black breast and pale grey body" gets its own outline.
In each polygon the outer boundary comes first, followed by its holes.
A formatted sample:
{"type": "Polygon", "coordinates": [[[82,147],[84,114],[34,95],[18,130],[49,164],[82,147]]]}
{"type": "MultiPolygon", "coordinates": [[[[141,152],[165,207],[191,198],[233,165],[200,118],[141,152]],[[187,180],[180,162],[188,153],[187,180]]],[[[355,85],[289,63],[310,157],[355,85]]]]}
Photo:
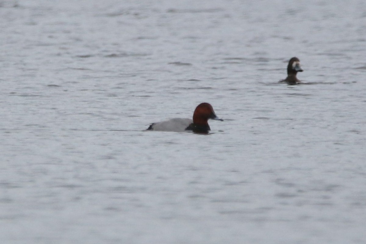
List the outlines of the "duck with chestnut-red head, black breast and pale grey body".
{"type": "Polygon", "coordinates": [[[165,121],[152,123],[146,130],[156,130],[165,132],[193,131],[194,133],[208,134],[210,126],[208,119],[219,120],[213,107],[209,103],[199,104],[193,112],[193,119],[173,118],[165,121]]]}

